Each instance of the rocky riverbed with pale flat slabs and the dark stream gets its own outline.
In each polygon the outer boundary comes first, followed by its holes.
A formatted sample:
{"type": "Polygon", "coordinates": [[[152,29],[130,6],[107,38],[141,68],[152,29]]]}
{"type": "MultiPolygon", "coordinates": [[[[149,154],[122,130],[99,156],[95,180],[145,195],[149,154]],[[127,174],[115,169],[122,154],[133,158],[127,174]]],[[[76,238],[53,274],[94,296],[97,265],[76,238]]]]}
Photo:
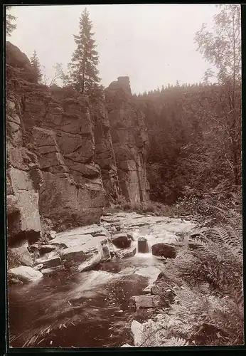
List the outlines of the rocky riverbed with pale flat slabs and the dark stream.
{"type": "Polygon", "coordinates": [[[9,270],[11,346],[141,345],[140,325],[173,301],[166,258],[192,234],[193,221],[115,213],[21,246],[28,266],[9,270]]]}

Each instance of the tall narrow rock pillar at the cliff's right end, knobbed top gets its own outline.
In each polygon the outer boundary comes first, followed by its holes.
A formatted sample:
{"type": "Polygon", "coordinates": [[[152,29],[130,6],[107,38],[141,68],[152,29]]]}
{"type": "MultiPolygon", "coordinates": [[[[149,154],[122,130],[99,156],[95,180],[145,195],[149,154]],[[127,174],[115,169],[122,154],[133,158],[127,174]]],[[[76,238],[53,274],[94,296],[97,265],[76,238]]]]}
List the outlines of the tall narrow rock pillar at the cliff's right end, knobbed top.
{"type": "Polygon", "coordinates": [[[122,194],[132,203],[148,201],[148,136],[143,114],[132,101],[129,77],[119,77],[112,82],[105,91],[105,98],[122,194]]]}

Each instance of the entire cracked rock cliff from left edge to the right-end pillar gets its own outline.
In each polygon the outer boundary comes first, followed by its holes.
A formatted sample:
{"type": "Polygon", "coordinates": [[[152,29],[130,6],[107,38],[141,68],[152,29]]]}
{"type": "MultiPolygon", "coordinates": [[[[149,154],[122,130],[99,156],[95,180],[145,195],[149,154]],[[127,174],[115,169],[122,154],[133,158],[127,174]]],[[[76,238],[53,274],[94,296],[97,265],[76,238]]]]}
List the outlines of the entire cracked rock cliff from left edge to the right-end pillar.
{"type": "Polygon", "coordinates": [[[96,108],[74,90],[33,78],[26,55],[7,42],[9,239],[38,239],[40,216],[70,226],[98,223],[105,203],[119,194],[146,201],[148,140],[129,78],[109,85],[106,105],[96,108]]]}

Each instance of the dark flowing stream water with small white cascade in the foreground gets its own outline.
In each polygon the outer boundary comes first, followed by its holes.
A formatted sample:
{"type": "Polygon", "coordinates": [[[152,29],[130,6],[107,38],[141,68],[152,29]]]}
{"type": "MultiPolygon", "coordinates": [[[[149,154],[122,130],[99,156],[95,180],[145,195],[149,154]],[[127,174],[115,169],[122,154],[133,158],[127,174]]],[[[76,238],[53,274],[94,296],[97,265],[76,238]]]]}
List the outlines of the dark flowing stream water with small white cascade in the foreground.
{"type": "MultiPolygon", "coordinates": [[[[137,246],[137,241],[132,243],[137,246]]],[[[11,347],[120,347],[131,343],[131,320],[149,317],[148,312],[136,315],[130,308],[130,298],[144,294],[149,285],[148,278],[135,272],[163,265],[150,252],[137,252],[131,258],[102,263],[97,271],[62,271],[38,282],[9,286],[11,347]]]]}

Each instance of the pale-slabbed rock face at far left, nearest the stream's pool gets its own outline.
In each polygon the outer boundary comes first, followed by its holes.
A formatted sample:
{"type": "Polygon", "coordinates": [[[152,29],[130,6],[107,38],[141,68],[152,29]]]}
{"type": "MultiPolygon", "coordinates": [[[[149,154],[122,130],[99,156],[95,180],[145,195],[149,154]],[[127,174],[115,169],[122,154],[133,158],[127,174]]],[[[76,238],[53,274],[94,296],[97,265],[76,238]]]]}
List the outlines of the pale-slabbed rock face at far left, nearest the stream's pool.
{"type": "Polygon", "coordinates": [[[36,155],[23,147],[21,119],[14,98],[6,101],[6,203],[8,243],[18,246],[41,236],[38,189],[43,184],[36,155]]]}

